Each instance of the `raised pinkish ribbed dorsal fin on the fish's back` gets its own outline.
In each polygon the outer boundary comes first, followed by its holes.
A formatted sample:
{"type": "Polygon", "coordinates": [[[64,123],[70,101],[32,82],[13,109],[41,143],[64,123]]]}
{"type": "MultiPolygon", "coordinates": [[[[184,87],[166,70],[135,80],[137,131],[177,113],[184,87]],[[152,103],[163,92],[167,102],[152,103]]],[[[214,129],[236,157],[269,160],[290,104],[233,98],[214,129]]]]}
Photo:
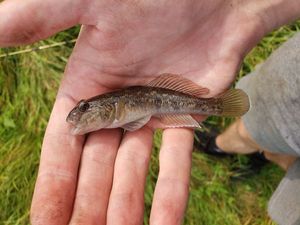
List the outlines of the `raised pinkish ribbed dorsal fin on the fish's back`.
{"type": "Polygon", "coordinates": [[[179,91],[185,94],[202,97],[209,93],[209,89],[176,74],[164,73],[152,80],[147,86],[161,87],[179,91]]]}

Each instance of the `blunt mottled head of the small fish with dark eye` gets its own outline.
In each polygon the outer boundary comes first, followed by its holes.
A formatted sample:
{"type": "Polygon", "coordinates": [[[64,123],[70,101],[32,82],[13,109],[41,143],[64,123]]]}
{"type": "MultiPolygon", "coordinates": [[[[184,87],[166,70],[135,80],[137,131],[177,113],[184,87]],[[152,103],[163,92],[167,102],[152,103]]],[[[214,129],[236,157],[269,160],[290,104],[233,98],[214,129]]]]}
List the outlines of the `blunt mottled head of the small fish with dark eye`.
{"type": "Polygon", "coordinates": [[[112,104],[81,100],[69,113],[66,121],[72,125],[71,133],[82,135],[109,126],[114,120],[112,104]]]}

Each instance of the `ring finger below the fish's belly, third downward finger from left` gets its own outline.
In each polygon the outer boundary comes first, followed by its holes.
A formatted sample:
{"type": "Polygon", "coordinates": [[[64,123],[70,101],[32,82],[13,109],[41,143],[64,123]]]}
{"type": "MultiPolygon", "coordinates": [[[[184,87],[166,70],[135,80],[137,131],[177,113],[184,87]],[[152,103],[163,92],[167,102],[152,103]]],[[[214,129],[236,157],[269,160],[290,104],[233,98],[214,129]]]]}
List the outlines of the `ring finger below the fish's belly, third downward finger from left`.
{"type": "Polygon", "coordinates": [[[152,136],[148,127],[125,134],[115,162],[107,224],[142,224],[152,136]]]}

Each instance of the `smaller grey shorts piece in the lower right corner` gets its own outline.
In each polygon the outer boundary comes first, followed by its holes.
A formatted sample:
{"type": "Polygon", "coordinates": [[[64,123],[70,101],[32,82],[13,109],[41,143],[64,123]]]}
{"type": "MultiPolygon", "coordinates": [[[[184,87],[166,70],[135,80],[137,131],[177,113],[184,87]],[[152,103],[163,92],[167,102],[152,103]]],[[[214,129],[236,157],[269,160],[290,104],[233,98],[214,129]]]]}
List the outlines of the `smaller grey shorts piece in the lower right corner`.
{"type": "Polygon", "coordinates": [[[300,159],[280,182],[269,201],[268,211],[279,225],[300,225],[300,159]]]}

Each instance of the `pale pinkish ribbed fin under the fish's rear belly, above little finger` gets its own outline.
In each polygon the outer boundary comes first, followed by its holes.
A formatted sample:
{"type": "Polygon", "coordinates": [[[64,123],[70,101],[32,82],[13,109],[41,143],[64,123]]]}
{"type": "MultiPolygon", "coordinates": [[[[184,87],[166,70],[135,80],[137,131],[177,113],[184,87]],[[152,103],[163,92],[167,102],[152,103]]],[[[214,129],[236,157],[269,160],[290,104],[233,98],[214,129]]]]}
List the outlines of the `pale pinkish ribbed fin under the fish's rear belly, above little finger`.
{"type": "Polygon", "coordinates": [[[159,115],[156,116],[165,128],[190,127],[200,128],[200,124],[191,115],[159,115]]]}

